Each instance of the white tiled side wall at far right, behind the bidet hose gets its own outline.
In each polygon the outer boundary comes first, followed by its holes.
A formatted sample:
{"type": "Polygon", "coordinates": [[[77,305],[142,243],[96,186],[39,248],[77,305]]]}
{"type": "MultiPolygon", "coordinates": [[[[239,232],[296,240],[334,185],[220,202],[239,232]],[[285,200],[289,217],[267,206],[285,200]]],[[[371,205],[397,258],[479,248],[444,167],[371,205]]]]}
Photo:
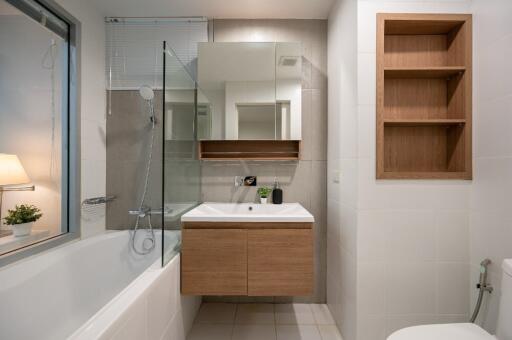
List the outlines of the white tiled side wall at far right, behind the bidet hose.
{"type": "Polygon", "coordinates": [[[474,180],[472,187],[471,306],[478,264],[492,260],[494,292],[484,300],[478,323],[496,329],[501,262],[512,258],[512,2],[473,0],[474,36],[474,180]]]}

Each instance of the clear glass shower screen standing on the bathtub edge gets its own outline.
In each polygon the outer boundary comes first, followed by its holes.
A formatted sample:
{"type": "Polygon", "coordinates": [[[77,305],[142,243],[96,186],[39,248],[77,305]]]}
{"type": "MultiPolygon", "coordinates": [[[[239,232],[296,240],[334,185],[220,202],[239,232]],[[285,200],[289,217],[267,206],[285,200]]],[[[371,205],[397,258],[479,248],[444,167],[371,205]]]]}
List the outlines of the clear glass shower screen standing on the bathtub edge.
{"type": "Polygon", "coordinates": [[[180,250],[181,216],[197,206],[201,199],[196,128],[200,96],[188,68],[166,42],[162,97],[162,265],[165,265],[180,250]]]}

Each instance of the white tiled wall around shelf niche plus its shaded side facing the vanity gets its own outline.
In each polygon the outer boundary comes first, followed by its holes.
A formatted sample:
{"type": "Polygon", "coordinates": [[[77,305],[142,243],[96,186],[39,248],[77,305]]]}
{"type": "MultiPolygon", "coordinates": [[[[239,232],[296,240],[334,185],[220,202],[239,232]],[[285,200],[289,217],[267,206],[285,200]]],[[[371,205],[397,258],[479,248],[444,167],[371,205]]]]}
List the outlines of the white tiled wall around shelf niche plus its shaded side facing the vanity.
{"type": "Polygon", "coordinates": [[[340,0],[331,10],[327,296],[345,339],[469,317],[471,182],[375,179],[375,45],[378,12],[470,10],[469,0],[340,0]]]}

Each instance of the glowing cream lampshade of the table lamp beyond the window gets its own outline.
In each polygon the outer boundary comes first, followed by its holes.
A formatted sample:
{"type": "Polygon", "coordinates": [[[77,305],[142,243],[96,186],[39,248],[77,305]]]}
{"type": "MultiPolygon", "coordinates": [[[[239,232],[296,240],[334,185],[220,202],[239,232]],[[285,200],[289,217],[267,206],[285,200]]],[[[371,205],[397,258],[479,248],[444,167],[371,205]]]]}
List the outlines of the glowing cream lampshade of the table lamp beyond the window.
{"type": "Polygon", "coordinates": [[[2,226],[2,197],[4,191],[34,191],[33,185],[27,186],[30,178],[16,155],[0,153],[0,227],[2,226]]]}

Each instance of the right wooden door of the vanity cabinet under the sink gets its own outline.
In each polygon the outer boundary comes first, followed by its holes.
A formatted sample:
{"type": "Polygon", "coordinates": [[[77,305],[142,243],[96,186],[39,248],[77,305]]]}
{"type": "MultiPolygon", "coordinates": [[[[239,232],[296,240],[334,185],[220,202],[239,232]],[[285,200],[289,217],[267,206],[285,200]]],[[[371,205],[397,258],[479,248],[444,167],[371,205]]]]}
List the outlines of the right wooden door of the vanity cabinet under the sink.
{"type": "Polygon", "coordinates": [[[313,230],[247,231],[248,295],[313,294],[313,230]]]}

